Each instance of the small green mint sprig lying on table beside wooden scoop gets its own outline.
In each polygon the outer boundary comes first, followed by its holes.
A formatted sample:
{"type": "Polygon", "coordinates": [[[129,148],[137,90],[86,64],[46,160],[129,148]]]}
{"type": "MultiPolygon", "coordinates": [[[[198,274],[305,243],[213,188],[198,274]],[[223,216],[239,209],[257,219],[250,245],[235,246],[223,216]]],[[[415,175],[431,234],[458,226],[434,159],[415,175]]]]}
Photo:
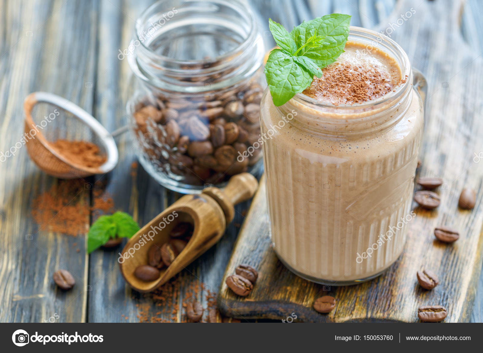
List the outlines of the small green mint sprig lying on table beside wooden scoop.
{"type": "Polygon", "coordinates": [[[113,215],[101,215],[87,233],[87,252],[90,254],[109,239],[130,238],[140,230],[130,215],[117,211],[113,215]]]}

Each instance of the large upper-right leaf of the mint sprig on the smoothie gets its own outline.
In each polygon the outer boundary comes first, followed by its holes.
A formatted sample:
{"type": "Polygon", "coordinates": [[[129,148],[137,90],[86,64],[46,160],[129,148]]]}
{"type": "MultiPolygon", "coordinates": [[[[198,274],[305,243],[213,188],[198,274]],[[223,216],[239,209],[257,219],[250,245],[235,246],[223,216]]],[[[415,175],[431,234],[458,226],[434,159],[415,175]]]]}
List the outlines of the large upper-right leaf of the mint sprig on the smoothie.
{"type": "Polygon", "coordinates": [[[305,45],[298,55],[317,60],[320,68],[336,61],[344,52],[350,21],[350,15],[331,14],[302,22],[290,32],[298,48],[305,45]]]}

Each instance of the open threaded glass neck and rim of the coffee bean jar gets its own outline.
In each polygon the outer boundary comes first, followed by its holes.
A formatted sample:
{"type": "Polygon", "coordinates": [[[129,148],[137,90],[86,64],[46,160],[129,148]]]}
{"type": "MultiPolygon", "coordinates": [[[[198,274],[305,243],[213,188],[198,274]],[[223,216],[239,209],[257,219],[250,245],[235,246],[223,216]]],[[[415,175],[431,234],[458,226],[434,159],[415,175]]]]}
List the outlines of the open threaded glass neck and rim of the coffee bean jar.
{"type": "Polygon", "coordinates": [[[261,66],[264,45],[254,14],[238,1],[161,0],[136,21],[127,54],[132,71],[147,84],[196,94],[251,77],[261,66]],[[199,47],[180,56],[176,43],[189,40],[199,47]]]}

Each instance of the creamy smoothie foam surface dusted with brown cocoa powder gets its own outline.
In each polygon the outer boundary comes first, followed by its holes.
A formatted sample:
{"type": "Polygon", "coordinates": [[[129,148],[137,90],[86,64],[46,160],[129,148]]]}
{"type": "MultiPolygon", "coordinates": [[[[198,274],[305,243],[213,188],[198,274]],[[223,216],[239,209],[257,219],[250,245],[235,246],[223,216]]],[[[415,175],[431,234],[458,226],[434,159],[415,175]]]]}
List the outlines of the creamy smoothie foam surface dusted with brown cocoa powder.
{"type": "Polygon", "coordinates": [[[367,102],[391,92],[401,82],[394,58],[377,48],[347,42],[334,63],[322,69],[303,93],[335,105],[367,102]]]}

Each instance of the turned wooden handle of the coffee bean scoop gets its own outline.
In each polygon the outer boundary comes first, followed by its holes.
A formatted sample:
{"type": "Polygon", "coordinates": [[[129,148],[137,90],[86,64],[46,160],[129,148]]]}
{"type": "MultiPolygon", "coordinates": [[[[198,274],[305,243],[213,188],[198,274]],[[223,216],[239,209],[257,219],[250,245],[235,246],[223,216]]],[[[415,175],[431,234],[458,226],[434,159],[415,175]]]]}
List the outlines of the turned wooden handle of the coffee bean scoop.
{"type": "Polygon", "coordinates": [[[233,220],[235,216],[234,205],[242,201],[248,200],[255,195],[258,188],[258,181],[250,173],[240,173],[232,176],[224,189],[217,187],[208,187],[203,190],[203,194],[211,196],[221,206],[227,224],[233,220]]]}

